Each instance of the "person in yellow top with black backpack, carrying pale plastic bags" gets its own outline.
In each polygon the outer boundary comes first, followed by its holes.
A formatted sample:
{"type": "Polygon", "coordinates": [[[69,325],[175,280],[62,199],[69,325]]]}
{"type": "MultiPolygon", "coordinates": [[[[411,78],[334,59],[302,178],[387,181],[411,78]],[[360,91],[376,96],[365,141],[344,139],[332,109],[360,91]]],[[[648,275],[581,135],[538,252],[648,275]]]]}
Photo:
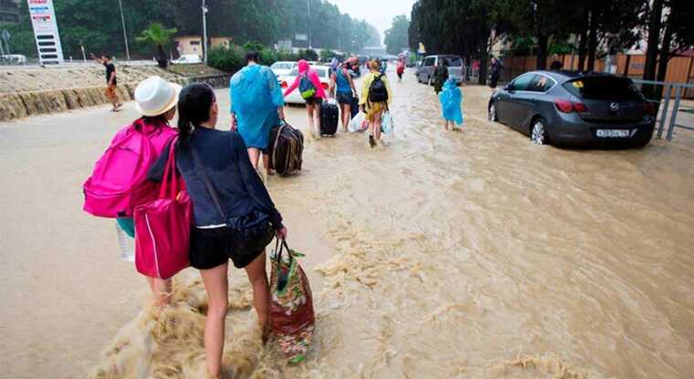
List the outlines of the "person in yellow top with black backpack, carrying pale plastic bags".
{"type": "Polygon", "coordinates": [[[388,84],[388,77],[381,74],[381,65],[377,59],[369,62],[369,69],[371,72],[363,78],[359,106],[369,121],[369,145],[374,148],[381,146],[381,118],[393,100],[393,92],[388,84]]]}

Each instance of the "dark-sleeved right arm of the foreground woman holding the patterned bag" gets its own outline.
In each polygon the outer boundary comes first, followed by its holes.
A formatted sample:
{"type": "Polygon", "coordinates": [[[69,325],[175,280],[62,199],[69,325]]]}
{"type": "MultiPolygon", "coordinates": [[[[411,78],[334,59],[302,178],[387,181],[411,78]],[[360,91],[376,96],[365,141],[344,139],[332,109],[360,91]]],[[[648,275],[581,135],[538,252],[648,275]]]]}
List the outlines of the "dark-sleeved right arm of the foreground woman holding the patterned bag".
{"type": "Polygon", "coordinates": [[[260,180],[258,172],[256,169],[253,169],[253,166],[250,164],[243,139],[241,139],[241,136],[237,133],[234,133],[234,135],[231,136],[231,143],[233,154],[236,155],[238,161],[238,170],[241,173],[241,179],[243,180],[251,201],[253,201],[253,204],[256,205],[259,210],[268,214],[272,229],[283,230],[282,215],[280,215],[277,208],[275,208],[275,204],[268,194],[268,189],[265,188],[265,185],[260,180]]]}

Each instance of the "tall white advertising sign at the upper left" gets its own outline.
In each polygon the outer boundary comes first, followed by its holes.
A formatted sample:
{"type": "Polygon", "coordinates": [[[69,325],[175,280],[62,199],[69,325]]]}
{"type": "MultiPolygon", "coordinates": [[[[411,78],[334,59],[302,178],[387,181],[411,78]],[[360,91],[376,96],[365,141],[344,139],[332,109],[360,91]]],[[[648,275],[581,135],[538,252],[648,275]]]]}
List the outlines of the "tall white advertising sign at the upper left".
{"type": "Polygon", "coordinates": [[[53,0],[26,0],[26,3],[29,5],[31,25],[34,26],[39,61],[42,65],[63,63],[53,0]]]}

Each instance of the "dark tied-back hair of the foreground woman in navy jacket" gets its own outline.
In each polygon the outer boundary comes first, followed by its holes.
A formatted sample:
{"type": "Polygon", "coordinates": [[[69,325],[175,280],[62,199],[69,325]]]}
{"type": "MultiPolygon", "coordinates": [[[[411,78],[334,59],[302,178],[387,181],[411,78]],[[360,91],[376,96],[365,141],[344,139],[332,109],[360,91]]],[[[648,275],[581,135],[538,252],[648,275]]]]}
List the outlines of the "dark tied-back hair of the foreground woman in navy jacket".
{"type": "Polygon", "coordinates": [[[216,101],[215,91],[204,83],[185,86],[178,96],[178,136],[185,142],[194,128],[210,119],[210,107],[216,101]]]}

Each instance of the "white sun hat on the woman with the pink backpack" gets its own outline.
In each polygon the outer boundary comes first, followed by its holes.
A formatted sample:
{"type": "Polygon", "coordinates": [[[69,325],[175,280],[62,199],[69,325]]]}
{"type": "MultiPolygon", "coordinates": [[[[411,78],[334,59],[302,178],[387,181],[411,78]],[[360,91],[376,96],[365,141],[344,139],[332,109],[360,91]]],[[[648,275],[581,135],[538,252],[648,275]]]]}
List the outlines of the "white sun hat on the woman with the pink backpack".
{"type": "Polygon", "coordinates": [[[148,77],[135,88],[135,109],[142,116],[159,116],[176,106],[181,86],[162,77],[148,77]]]}

